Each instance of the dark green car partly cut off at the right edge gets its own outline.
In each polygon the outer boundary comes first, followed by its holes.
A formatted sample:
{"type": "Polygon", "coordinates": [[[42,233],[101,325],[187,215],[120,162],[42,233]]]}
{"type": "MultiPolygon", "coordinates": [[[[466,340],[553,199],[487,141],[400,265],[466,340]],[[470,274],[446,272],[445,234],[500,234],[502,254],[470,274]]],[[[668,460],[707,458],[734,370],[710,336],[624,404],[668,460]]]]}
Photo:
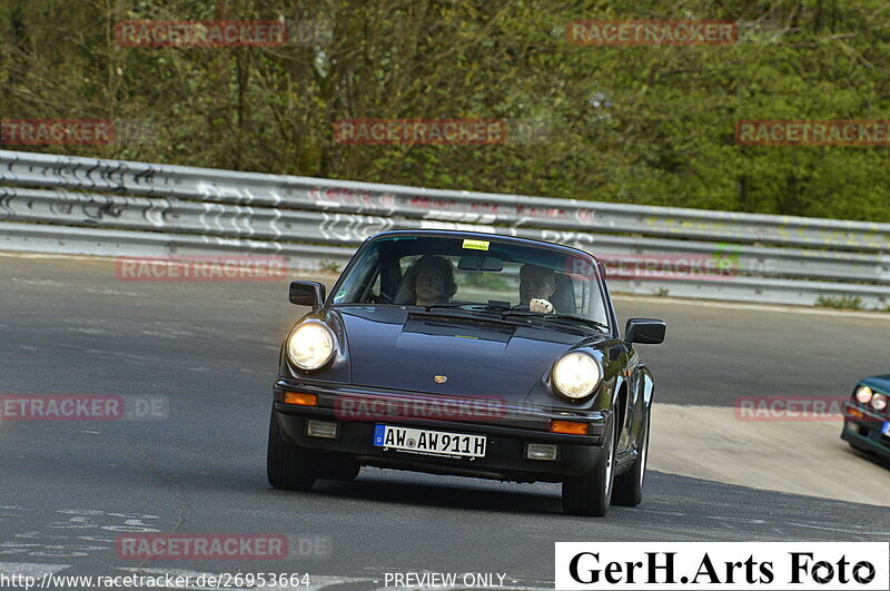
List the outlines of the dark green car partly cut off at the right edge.
{"type": "Polygon", "coordinates": [[[852,398],[843,405],[841,439],[863,452],[890,459],[890,375],[859,382],[852,398]]]}

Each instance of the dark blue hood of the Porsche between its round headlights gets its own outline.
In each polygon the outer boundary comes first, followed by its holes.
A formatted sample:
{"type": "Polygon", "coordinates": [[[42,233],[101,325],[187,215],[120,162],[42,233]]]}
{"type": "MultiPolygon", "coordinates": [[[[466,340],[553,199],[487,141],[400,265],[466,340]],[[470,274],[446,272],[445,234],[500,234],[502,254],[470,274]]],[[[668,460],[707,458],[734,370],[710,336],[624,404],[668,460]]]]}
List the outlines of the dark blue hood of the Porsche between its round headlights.
{"type": "Polygon", "coordinates": [[[560,355],[592,338],[583,331],[458,314],[338,309],[353,383],[521,402],[560,355]],[[435,376],[447,380],[436,383],[435,376]]]}

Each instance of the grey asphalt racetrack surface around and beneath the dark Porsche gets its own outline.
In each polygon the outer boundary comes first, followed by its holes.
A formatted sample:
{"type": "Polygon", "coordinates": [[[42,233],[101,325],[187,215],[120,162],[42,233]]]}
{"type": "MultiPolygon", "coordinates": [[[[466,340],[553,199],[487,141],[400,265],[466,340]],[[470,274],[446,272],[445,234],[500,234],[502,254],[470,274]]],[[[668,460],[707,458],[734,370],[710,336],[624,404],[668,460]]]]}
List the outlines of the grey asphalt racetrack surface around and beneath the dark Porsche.
{"type": "MultiPolygon", "coordinates": [[[[269,489],[270,384],[297,314],[286,283],[130,283],[107,262],[0,256],[0,394],[142,396],[166,418],[0,422],[0,573],[506,573],[553,587],[554,541],[886,541],[890,509],[651,472],[643,504],[561,513],[560,490],[363,470],[310,493],[269,489]],[[120,532],[277,533],[323,551],[278,561],[139,561],[120,532]]],[[[835,394],[886,367],[887,319],[620,302],[669,322],[644,357],[660,401],[835,394]]],[[[296,544],[295,544],[296,545],[296,544]]],[[[72,585],[75,587],[75,585],[72,585]]],[[[303,587],[301,589],[306,589],[303,587]]]]}

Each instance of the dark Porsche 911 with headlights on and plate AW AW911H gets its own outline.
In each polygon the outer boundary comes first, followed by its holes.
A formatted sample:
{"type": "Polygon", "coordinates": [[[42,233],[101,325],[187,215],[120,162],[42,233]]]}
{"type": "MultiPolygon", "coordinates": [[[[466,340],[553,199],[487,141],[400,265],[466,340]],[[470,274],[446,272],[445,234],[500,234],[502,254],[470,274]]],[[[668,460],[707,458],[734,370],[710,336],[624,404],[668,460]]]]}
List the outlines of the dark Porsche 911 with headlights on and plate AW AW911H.
{"type": "Polygon", "coordinates": [[[622,335],[602,264],[492,234],[368,238],[283,343],[267,471],[278,489],[354,479],[363,465],[561,482],[566,512],[642,500],[654,382],[622,335]]]}

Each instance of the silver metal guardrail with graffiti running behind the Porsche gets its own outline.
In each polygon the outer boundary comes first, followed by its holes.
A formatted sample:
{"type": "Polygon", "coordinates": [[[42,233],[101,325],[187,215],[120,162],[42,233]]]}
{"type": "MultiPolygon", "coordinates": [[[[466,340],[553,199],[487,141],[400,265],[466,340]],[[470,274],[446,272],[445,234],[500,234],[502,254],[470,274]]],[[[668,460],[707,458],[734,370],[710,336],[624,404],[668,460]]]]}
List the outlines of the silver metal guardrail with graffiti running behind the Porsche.
{"type": "MultiPolygon", "coordinates": [[[[635,255],[731,257],[732,280],[613,280],[613,290],[890,307],[890,224],[425,189],[0,150],[0,249],[264,253],[342,265],[390,228],[461,228],[635,255]]],[[[329,266],[329,264],[328,264],[329,266]]],[[[725,278],[724,279],[729,279],[725,278]]]]}

